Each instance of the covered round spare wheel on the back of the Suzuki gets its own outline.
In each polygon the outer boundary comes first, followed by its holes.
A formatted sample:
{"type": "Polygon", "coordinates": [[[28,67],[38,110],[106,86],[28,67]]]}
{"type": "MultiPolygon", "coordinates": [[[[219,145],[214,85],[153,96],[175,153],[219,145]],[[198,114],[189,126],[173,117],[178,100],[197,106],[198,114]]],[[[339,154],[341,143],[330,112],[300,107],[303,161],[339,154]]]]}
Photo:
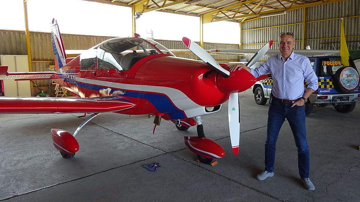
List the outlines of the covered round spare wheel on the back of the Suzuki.
{"type": "Polygon", "coordinates": [[[336,71],[333,82],[339,92],[351,93],[359,86],[359,73],[351,66],[344,66],[336,71]]]}

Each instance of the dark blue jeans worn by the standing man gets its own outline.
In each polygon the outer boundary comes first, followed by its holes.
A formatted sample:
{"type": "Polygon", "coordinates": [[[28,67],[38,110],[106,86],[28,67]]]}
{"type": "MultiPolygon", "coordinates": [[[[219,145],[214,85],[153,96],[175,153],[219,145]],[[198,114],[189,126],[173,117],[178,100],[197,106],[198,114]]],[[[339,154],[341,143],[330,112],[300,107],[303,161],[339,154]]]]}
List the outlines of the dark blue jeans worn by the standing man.
{"type": "Polygon", "coordinates": [[[301,178],[308,178],[310,171],[309,148],[306,140],[305,107],[294,106],[273,100],[267,118],[267,138],[265,143],[265,170],[274,171],[275,147],[279,131],[285,118],[291,127],[297,147],[299,174],[301,178]]]}

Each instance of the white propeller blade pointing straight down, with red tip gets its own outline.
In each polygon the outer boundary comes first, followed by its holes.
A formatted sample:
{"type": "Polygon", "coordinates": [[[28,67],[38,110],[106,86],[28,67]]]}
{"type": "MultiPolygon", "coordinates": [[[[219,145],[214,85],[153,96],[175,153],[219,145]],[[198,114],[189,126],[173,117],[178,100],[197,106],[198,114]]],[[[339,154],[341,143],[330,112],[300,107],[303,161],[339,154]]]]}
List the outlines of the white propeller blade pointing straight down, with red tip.
{"type": "Polygon", "coordinates": [[[240,141],[240,105],[239,105],[239,94],[237,92],[230,93],[228,116],[229,116],[231,148],[233,149],[233,153],[237,155],[239,153],[239,141],[240,141]]]}

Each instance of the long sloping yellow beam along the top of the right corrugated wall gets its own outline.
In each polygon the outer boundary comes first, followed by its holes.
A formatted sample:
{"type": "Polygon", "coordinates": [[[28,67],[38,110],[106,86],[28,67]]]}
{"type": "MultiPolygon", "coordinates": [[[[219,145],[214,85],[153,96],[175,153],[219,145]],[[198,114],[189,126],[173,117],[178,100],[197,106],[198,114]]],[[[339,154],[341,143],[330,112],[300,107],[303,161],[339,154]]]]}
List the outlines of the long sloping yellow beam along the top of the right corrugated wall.
{"type": "MultiPolygon", "coordinates": [[[[244,18],[244,17],[253,17],[253,16],[258,16],[261,14],[270,14],[270,13],[280,12],[280,11],[284,11],[284,10],[287,10],[287,11],[296,10],[296,9],[300,9],[300,8],[306,8],[306,7],[317,6],[317,5],[322,5],[322,4],[336,3],[336,2],[340,2],[340,1],[345,1],[345,0],[328,0],[327,2],[316,1],[316,2],[312,2],[312,3],[301,4],[301,5],[293,5],[293,6],[291,6],[291,8],[288,8],[288,9],[281,8],[281,9],[267,10],[267,11],[260,12],[257,15],[256,14],[238,15],[238,16],[234,17],[233,19],[240,19],[240,18],[244,18]]],[[[224,21],[224,20],[229,20],[229,19],[228,18],[220,18],[220,19],[215,19],[212,22],[224,21]]]]}

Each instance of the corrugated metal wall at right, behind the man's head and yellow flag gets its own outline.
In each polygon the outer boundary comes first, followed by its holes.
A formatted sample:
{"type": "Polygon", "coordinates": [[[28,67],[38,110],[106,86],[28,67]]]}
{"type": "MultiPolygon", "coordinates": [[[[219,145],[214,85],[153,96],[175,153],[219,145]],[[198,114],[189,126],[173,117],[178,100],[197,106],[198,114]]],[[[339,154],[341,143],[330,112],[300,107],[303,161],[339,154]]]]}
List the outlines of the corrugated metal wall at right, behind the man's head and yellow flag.
{"type": "MultiPolygon", "coordinates": [[[[340,19],[312,22],[332,18],[347,17],[344,20],[345,36],[349,49],[360,49],[360,4],[359,0],[341,1],[338,3],[324,4],[305,8],[305,46],[310,43],[311,49],[338,49],[340,46],[340,19]],[[357,17],[353,17],[357,16],[357,17]],[[350,37],[355,36],[355,37],[350,37]],[[320,39],[321,38],[321,39],[320,39]],[[328,39],[330,38],[330,39],[328,39]],[[317,40],[314,40],[317,39],[317,40]]],[[[254,43],[265,43],[269,40],[278,41],[280,32],[294,32],[296,49],[302,48],[302,26],[303,9],[288,12],[285,15],[278,15],[251,22],[243,23],[243,49],[258,49],[261,45],[254,43]],[[282,27],[285,24],[292,24],[282,27]],[[270,27],[270,28],[264,28],[270,27]],[[260,29],[259,29],[260,28],[260,29]],[[264,28],[264,29],[263,29],[264,28]],[[255,29],[255,30],[251,30],[255,29]]],[[[277,49],[277,43],[272,47],[277,49]]]]}

